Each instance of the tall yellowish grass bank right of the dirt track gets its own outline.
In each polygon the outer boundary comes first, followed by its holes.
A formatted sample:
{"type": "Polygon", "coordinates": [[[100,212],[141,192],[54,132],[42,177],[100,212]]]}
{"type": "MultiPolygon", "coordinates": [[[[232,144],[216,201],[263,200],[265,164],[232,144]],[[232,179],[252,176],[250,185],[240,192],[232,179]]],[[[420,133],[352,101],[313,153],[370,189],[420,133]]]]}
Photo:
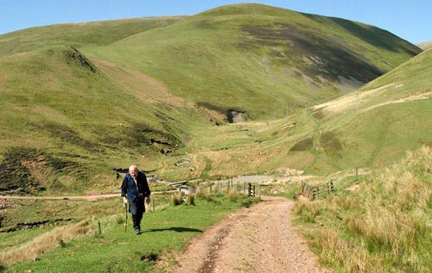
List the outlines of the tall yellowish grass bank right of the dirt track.
{"type": "Polygon", "coordinates": [[[325,224],[313,244],[323,263],[343,272],[432,272],[430,147],[345,194],[293,207],[306,221],[321,213],[325,224]]]}

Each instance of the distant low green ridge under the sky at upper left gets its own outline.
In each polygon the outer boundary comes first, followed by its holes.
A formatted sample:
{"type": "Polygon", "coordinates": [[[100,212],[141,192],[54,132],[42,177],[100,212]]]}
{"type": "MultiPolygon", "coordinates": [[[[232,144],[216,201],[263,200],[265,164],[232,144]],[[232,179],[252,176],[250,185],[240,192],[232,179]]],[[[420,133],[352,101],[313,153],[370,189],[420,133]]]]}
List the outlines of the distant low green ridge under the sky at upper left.
{"type": "Polygon", "coordinates": [[[0,36],[0,56],[26,52],[50,45],[109,45],[157,27],[167,27],[184,17],[151,17],[125,20],[86,22],[77,24],[54,24],[32,27],[0,36]]]}

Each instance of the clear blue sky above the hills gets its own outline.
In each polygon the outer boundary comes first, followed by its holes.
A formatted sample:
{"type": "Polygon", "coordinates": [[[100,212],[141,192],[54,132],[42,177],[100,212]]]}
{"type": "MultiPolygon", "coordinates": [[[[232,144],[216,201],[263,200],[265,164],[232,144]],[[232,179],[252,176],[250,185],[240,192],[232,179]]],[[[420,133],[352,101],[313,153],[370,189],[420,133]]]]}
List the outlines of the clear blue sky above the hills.
{"type": "MultiPolygon", "coordinates": [[[[66,22],[194,15],[243,2],[251,1],[0,0],[0,34],[66,22]]],[[[256,0],[254,3],[373,24],[411,43],[432,40],[432,0],[256,0]]]]}

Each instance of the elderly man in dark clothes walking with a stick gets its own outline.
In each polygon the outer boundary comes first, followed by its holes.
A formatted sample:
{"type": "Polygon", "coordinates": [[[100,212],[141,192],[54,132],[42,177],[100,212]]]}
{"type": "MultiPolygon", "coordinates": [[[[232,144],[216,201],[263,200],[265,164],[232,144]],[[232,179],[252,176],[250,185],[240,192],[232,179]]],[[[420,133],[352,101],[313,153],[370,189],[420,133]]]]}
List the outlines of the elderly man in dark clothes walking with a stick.
{"type": "Polygon", "coordinates": [[[129,172],[121,184],[121,196],[123,197],[123,205],[128,204],[129,200],[129,212],[132,214],[134,230],[137,235],[141,233],[141,219],[146,212],[144,198],[147,198],[146,202],[149,204],[151,202],[150,194],[151,191],[144,172],[138,170],[137,165],[130,165],[129,172]]]}

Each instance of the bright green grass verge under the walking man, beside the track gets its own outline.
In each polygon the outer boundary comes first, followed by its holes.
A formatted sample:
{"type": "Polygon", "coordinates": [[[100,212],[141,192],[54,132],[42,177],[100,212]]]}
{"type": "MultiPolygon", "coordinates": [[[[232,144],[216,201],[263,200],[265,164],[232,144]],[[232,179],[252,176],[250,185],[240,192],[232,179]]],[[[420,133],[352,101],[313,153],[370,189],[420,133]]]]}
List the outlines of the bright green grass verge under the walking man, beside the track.
{"type": "Polygon", "coordinates": [[[169,206],[144,214],[141,235],[134,234],[130,223],[124,233],[124,223],[118,221],[118,217],[124,218],[123,214],[100,217],[102,235],[94,235],[98,228],[93,221],[93,235],[73,239],[36,261],[17,263],[3,272],[153,272],[152,259],[179,251],[227,213],[255,201],[213,195],[210,202],[201,198],[194,202],[195,205],[169,206]]]}

